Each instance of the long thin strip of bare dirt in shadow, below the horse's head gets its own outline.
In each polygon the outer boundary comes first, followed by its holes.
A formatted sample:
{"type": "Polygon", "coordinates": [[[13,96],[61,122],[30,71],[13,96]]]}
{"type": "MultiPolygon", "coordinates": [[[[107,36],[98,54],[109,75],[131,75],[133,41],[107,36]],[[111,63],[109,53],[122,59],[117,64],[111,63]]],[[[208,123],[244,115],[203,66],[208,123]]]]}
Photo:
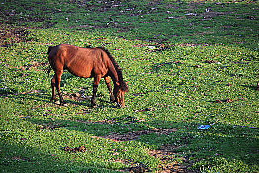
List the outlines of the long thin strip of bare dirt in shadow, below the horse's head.
{"type": "Polygon", "coordinates": [[[107,135],[107,136],[94,136],[94,138],[105,138],[105,139],[111,139],[117,142],[121,141],[130,141],[130,140],[136,140],[138,139],[139,136],[144,135],[144,134],[149,134],[149,133],[157,133],[157,134],[169,134],[172,132],[177,131],[176,128],[173,129],[162,129],[162,128],[155,128],[151,130],[143,130],[143,131],[136,131],[136,132],[130,132],[126,133],[123,135],[119,134],[112,134],[112,135],[107,135]]]}

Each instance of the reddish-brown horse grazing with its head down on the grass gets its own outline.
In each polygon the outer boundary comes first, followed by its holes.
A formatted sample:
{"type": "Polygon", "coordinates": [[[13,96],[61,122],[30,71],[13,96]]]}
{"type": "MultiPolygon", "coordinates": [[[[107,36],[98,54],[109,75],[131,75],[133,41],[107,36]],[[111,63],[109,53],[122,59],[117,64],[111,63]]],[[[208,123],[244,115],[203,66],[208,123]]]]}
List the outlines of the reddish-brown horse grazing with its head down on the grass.
{"type": "Polygon", "coordinates": [[[116,102],[117,107],[123,108],[125,92],[129,90],[128,82],[123,81],[122,71],[110,52],[104,47],[81,48],[69,44],[60,44],[48,47],[48,61],[50,63],[48,74],[51,68],[54,76],[51,79],[52,97],[50,101],[55,104],[67,106],[60,92],[60,80],[63,70],[66,69],[72,75],[81,78],[94,78],[93,94],[91,104],[95,108],[95,97],[101,78],[104,78],[110,94],[110,102],[116,102]],[[110,77],[114,84],[112,91],[110,77]],[[60,102],[56,98],[57,89],[60,102]],[[114,98],[115,96],[115,98],[114,98]]]}

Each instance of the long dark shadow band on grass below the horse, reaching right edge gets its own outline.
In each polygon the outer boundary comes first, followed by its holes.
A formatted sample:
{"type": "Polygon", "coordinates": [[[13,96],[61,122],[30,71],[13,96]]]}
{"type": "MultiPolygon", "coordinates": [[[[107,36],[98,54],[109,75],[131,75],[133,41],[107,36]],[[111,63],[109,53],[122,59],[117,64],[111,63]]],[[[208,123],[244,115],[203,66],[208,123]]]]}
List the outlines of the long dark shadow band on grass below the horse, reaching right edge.
{"type": "MultiPolygon", "coordinates": [[[[121,117],[121,120],[105,120],[99,122],[86,122],[84,120],[39,120],[24,119],[30,123],[41,125],[42,129],[55,130],[63,128],[67,130],[78,130],[86,132],[88,135],[97,138],[106,138],[113,135],[136,135],[139,131],[144,131],[135,140],[145,146],[182,146],[174,152],[185,153],[186,157],[208,158],[224,157],[226,159],[238,159],[248,165],[255,164],[259,166],[257,156],[259,155],[259,139],[254,138],[258,133],[257,129],[246,127],[237,127],[233,125],[212,125],[207,130],[199,130],[200,123],[185,122],[137,122],[133,117],[129,117],[129,122],[122,123],[128,117],[121,117]],[[175,132],[168,134],[159,134],[148,132],[148,129],[173,129],[175,132]],[[145,131],[147,131],[145,133],[145,131]],[[244,136],[244,132],[247,134],[244,136]],[[106,137],[105,137],[106,136],[106,137]],[[197,137],[198,136],[198,137],[197,137]],[[246,156],[250,157],[246,157],[246,156]]],[[[110,137],[111,140],[113,138],[110,137]]],[[[123,139],[121,141],[124,141],[123,139]]],[[[127,142],[125,140],[124,142],[127,142]]],[[[77,147],[77,143],[71,143],[72,147],[77,147]]],[[[64,146],[65,147],[65,146],[64,146]]]]}

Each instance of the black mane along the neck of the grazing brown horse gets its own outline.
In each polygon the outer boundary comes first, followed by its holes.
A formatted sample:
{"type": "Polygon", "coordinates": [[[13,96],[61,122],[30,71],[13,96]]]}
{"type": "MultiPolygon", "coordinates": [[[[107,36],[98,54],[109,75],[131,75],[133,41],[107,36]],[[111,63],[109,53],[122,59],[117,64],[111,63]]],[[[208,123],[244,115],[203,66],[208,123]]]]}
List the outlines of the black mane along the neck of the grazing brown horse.
{"type": "Polygon", "coordinates": [[[112,61],[112,64],[117,72],[118,75],[118,79],[119,79],[119,89],[125,92],[129,91],[129,87],[127,86],[127,84],[125,84],[124,80],[123,80],[123,76],[122,76],[122,70],[119,67],[119,64],[115,61],[114,57],[111,55],[111,53],[109,52],[108,49],[106,49],[105,47],[97,47],[99,49],[102,49],[110,58],[110,60],[112,61]]]}

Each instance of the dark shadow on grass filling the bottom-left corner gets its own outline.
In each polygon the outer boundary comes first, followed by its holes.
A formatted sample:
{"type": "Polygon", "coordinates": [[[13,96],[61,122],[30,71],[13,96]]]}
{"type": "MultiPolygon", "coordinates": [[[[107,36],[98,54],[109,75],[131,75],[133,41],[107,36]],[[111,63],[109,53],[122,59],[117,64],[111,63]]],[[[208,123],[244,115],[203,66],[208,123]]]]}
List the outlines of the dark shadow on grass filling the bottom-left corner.
{"type": "MultiPolygon", "coordinates": [[[[18,139],[19,140],[19,139],[18,139]]],[[[28,142],[30,138],[20,141],[18,144],[0,142],[0,169],[3,173],[117,173],[116,171],[102,168],[101,165],[91,162],[83,163],[75,161],[73,154],[62,157],[62,152],[53,151],[48,145],[41,146],[28,142]],[[28,144],[29,143],[29,144],[28,144]],[[31,145],[30,145],[31,144],[31,145]],[[61,156],[61,157],[58,157],[61,156]],[[90,166],[94,165],[94,166],[90,166]]],[[[38,139],[32,139],[38,140],[38,139]]],[[[54,147],[56,150],[63,150],[62,147],[54,147]]],[[[64,151],[65,152],[65,151],[64,151]]]]}

